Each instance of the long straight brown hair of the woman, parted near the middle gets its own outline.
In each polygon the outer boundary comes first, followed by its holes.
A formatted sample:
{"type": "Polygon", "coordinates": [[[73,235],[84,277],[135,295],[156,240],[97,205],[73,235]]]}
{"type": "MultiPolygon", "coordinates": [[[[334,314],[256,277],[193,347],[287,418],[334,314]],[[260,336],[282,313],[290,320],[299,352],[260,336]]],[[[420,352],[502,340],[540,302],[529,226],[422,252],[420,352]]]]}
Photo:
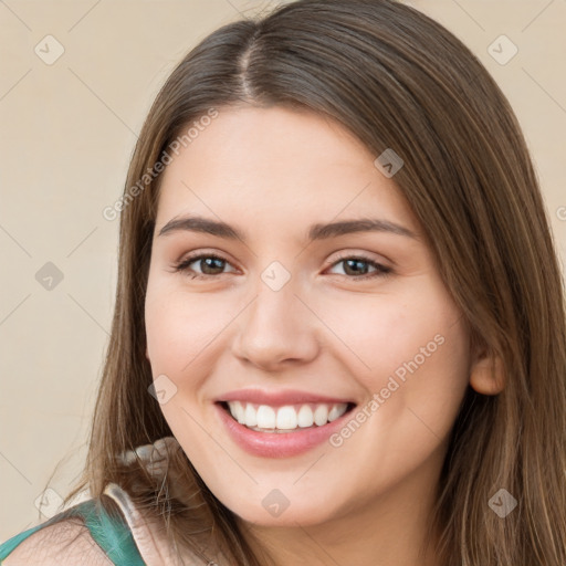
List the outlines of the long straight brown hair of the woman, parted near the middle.
{"type": "Polygon", "coordinates": [[[260,565],[182,451],[171,453],[163,481],[118,459],[172,436],[148,392],[145,357],[160,176],[139,180],[188,125],[242,104],[308,109],[342,123],[376,157],[392,148],[405,161],[395,181],[432,244],[472,346],[502,360],[504,390],[483,396],[469,387],[454,422],[434,510],[439,564],[564,566],[566,313],[537,178],[520,124],[480,61],[442,25],[394,0],[298,0],[230,23],[163,86],[127,176],[112,336],[86,467],[65,501],[86,485],[98,499],[114,482],[165,520],[172,547],[214,546],[231,565],[260,565]],[[489,506],[500,489],[518,502],[505,518],[489,506]]]}

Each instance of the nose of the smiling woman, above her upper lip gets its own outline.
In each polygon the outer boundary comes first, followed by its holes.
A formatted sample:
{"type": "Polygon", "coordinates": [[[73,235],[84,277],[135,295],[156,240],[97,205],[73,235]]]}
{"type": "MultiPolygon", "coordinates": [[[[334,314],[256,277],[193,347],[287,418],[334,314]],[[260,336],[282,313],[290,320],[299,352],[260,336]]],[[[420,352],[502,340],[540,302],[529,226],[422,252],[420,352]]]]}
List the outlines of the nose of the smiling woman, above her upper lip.
{"type": "Polygon", "coordinates": [[[260,281],[255,297],[238,317],[232,352],[245,364],[276,371],[318,355],[323,324],[292,281],[279,291],[260,281]]]}

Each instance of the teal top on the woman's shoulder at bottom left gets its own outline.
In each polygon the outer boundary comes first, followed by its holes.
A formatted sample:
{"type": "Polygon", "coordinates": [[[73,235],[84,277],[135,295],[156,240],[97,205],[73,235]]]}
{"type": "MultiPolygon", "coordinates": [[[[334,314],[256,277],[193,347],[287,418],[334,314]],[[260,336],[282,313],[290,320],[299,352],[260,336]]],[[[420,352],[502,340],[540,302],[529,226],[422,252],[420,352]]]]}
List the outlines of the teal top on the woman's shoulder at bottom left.
{"type": "Polygon", "coordinates": [[[63,511],[41,525],[23,531],[0,544],[0,566],[8,558],[8,555],[30,535],[70,516],[80,516],[84,520],[92,537],[113,564],[117,566],[146,566],[126,520],[122,515],[109,515],[102,504],[96,504],[94,500],[85,501],[63,511]]]}

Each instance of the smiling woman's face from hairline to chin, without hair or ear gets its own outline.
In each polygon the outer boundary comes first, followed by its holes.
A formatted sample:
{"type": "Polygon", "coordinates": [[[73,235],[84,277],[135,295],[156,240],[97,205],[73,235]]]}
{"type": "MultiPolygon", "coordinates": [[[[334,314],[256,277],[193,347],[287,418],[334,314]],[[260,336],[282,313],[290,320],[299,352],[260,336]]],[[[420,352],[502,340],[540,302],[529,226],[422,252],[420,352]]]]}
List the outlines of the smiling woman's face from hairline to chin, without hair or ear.
{"type": "Polygon", "coordinates": [[[315,114],[206,123],[164,172],[147,287],[171,431],[259,525],[429,501],[469,335],[395,177],[315,114]]]}

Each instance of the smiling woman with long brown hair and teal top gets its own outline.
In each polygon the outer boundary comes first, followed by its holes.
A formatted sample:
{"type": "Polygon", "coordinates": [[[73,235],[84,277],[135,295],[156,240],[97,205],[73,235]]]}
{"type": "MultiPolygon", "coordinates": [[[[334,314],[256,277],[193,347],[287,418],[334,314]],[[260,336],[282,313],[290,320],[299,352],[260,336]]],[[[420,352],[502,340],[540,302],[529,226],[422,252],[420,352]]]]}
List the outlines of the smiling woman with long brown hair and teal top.
{"type": "Polygon", "coordinates": [[[219,29],[114,209],[92,499],[7,565],[565,564],[563,281],[450,32],[392,0],[219,29]]]}

